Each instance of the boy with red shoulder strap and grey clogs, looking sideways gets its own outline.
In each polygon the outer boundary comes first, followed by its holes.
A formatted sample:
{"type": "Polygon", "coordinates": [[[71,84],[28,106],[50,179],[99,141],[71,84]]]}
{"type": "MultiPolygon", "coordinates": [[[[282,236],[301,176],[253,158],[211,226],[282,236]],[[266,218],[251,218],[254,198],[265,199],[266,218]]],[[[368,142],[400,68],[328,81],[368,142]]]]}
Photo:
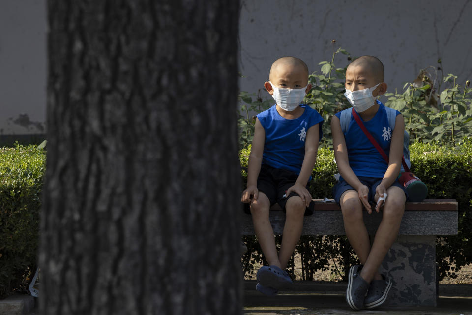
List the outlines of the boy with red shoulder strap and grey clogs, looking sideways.
{"type": "Polygon", "coordinates": [[[341,175],[333,193],[341,206],[346,236],[362,263],[350,269],[346,300],[354,310],[373,309],[386,301],[392,285],[378,269],[398,235],[407,198],[406,189],[397,180],[405,122],[395,111],[395,127],[391,130],[386,111],[392,109],[376,100],[387,89],[383,64],[376,57],[362,56],[350,63],[345,86],[344,95],[353,107],[331,120],[334,155],[341,175]],[[354,119],[356,113],[388,156],[388,164],[354,119]],[[345,131],[341,127],[343,117],[348,126],[345,131]],[[377,212],[383,207],[372,247],[362,219],[362,206],[372,213],[370,202],[377,212]]]}

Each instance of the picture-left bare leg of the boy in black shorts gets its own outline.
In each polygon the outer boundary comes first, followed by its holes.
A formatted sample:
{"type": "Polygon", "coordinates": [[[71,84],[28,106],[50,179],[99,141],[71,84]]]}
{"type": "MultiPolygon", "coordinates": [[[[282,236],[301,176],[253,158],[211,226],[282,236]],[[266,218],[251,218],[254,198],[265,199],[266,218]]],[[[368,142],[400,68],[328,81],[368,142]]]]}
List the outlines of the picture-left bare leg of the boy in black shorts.
{"type": "Polygon", "coordinates": [[[269,221],[270,201],[266,194],[259,192],[259,197],[251,204],[252,223],[262,252],[269,266],[281,267],[275,247],[274,231],[269,221]]]}

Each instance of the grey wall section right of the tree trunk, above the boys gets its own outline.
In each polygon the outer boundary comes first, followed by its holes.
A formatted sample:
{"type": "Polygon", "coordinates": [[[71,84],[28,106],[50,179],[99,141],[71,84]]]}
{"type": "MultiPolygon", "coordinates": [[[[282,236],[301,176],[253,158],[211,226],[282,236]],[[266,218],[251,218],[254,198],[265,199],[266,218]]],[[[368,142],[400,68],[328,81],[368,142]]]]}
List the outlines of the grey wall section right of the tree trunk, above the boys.
{"type": "MultiPolygon", "coordinates": [[[[241,0],[239,37],[242,91],[264,89],[278,57],[299,57],[319,71],[333,39],[353,56],[380,58],[389,92],[438,58],[445,75],[472,79],[472,0],[241,0]]],[[[334,62],[349,63],[342,54],[334,62]]]]}

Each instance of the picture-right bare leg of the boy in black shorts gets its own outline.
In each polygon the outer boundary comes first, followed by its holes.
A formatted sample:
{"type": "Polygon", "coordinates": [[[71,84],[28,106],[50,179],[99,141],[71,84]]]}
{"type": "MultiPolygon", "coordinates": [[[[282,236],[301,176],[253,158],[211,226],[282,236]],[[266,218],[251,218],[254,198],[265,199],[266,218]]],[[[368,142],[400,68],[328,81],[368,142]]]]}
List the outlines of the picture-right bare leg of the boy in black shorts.
{"type": "Polygon", "coordinates": [[[287,263],[295,251],[296,244],[300,240],[305,208],[306,205],[299,196],[290,197],[285,204],[286,218],[279,252],[280,268],[282,269],[287,267],[287,263]]]}

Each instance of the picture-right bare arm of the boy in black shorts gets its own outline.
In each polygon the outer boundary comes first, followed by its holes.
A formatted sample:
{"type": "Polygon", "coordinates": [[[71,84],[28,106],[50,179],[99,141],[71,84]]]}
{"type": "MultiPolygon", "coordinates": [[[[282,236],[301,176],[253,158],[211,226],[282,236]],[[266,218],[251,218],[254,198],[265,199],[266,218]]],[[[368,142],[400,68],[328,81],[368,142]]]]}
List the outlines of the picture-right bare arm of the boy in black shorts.
{"type": "Polygon", "coordinates": [[[313,167],[316,162],[316,155],[318,153],[318,144],[320,142],[320,127],[319,124],[311,126],[305,138],[305,156],[301,164],[300,174],[296,179],[295,185],[287,189],[287,196],[292,192],[296,192],[305,205],[308,207],[311,201],[310,192],[306,189],[306,184],[313,172],[313,167]]]}

